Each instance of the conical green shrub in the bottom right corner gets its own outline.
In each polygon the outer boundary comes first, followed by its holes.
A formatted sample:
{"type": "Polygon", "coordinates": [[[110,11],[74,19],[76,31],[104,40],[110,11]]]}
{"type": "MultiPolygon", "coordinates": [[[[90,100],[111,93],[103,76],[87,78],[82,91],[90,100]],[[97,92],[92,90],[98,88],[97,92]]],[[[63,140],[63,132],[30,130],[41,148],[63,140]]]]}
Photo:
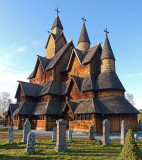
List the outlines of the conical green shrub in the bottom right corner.
{"type": "Polygon", "coordinates": [[[133,136],[131,129],[129,129],[125,138],[125,144],[118,157],[118,160],[140,160],[140,159],[141,157],[139,148],[137,146],[137,143],[135,142],[135,138],[133,136]]]}

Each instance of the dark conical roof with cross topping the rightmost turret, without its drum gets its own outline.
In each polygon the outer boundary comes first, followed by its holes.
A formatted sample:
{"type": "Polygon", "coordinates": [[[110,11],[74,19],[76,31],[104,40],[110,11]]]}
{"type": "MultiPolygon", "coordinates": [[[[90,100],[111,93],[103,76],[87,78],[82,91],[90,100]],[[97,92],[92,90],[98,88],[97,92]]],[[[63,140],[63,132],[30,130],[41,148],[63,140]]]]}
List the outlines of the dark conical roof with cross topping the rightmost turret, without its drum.
{"type": "Polygon", "coordinates": [[[109,39],[108,39],[108,31],[107,31],[107,28],[104,30],[104,32],[106,32],[106,38],[105,38],[105,43],[104,43],[104,47],[103,47],[103,51],[102,51],[102,56],[101,56],[101,60],[103,59],[114,59],[115,60],[115,57],[114,57],[114,54],[113,54],[113,51],[111,49],[111,45],[110,45],[110,42],[109,42],[109,39]]]}

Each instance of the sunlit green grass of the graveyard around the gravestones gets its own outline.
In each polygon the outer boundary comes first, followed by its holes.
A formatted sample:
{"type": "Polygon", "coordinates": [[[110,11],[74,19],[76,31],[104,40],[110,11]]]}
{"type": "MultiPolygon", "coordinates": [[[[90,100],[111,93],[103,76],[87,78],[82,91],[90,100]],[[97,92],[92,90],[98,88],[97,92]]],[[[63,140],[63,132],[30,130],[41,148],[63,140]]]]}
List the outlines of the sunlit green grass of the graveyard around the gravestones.
{"type": "MultiPolygon", "coordinates": [[[[36,136],[35,153],[26,153],[26,144],[22,143],[23,132],[14,132],[14,142],[8,143],[8,130],[0,127],[0,160],[47,160],[47,159],[117,159],[121,152],[122,145],[119,139],[113,139],[112,145],[95,145],[95,140],[86,138],[74,138],[73,141],[67,140],[68,151],[56,152],[54,147],[56,142],[52,142],[51,137],[36,136]]],[[[138,143],[142,152],[142,140],[138,143]]],[[[142,153],[141,153],[142,154],[142,153]]]]}

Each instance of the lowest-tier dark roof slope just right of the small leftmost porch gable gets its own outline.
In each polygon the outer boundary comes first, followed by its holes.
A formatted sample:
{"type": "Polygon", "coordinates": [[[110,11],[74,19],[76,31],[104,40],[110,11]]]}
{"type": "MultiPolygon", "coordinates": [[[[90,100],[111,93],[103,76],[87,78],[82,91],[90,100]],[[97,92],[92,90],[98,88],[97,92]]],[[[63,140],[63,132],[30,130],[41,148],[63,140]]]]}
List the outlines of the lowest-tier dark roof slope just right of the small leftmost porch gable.
{"type": "Polygon", "coordinates": [[[35,103],[31,102],[20,103],[19,107],[14,111],[13,115],[31,115],[34,107],[35,103]]]}

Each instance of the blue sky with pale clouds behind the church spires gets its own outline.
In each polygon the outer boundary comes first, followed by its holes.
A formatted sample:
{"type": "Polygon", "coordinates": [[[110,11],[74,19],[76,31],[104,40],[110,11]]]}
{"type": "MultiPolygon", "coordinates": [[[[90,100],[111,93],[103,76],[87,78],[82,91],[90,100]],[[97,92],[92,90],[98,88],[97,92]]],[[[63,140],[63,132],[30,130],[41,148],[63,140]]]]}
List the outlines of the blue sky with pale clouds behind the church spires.
{"type": "Polygon", "coordinates": [[[67,41],[77,47],[86,27],[91,46],[109,40],[116,58],[116,72],[126,91],[142,108],[142,1],[141,0],[1,0],[0,1],[0,92],[14,95],[17,80],[27,81],[37,56],[45,56],[45,44],[59,7],[67,41]]]}

